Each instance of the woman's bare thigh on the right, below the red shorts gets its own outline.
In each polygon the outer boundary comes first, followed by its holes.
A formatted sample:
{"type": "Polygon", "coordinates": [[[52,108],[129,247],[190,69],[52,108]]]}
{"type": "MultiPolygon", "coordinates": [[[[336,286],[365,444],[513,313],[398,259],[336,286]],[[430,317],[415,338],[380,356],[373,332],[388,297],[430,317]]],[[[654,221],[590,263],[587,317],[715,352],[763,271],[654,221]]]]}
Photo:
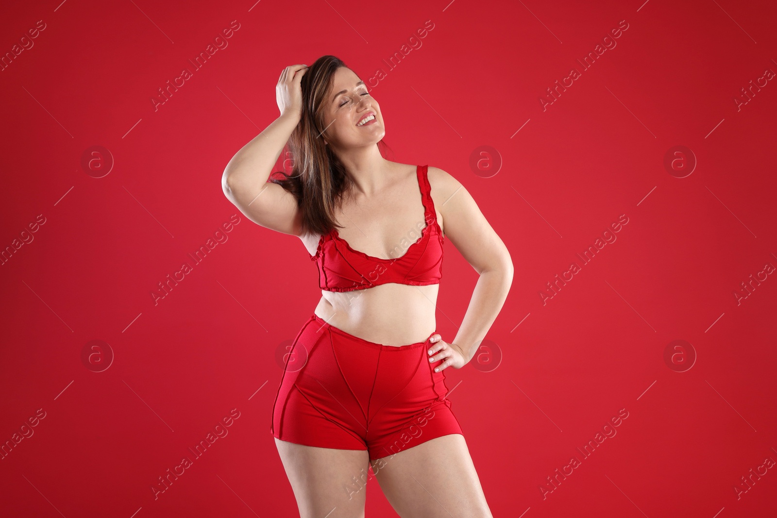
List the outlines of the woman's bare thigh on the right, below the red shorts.
{"type": "Polygon", "coordinates": [[[493,518],[461,434],[436,437],[371,464],[402,518],[493,518]]]}

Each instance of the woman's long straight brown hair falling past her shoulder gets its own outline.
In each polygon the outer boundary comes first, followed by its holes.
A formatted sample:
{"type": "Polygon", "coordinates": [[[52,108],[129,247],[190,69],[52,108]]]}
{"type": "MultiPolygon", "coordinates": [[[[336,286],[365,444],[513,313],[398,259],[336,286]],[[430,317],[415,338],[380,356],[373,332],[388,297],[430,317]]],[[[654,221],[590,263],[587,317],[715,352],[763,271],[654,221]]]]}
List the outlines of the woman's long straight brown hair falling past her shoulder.
{"type": "MultiPolygon", "coordinates": [[[[297,199],[302,211],[302,228],[308,234],[326,234],[335,227],[335,211],[343,203],[343,193],[350,189],[353,180],[347,176],[345,166],[324,144],[322,133],[324,111],[329,91],[332,89],[333,76],[338,68],[347,67],[335,56],[322,56],[315,60],[302,76],[302,114],[297,127],[281,152],[286,156],[286,148],[291,153],[291,175],[283,171],[270,175],[270,182],[277,183],[297,199]],[[277,176],[273,178],[274,175],[277,176]]],[[[389,148],[383,140],[378,142],[389,148]]],[[[390,148],[389,148],[390,149],[390,148]]],[[[381,155],[385,158],[383,151],[381,155]]]]}

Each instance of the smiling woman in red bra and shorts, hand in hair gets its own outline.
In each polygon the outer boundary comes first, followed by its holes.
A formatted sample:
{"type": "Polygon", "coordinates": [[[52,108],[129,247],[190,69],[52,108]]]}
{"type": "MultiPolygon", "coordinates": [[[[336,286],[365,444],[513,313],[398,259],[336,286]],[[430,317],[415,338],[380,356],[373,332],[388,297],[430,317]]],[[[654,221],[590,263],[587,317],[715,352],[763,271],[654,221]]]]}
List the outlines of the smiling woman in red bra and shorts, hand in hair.
{"type": "Polygon", "coordinates": [[[472,360],[497,318],[507,248],[447,172],[382,157],[380,106],[343,61],[287,67],[276,93],[280,116],[222,186],[256,224],[298,236],[319,269],[270,425],[300,515],[364,516],[374,474],[402,518],[490,517],[444,370],[472,360]],[[293,173],[268,183],[287,141],[293,173]],[[452,342],[434,318],[445,236],[480,274],[452,342]]]}

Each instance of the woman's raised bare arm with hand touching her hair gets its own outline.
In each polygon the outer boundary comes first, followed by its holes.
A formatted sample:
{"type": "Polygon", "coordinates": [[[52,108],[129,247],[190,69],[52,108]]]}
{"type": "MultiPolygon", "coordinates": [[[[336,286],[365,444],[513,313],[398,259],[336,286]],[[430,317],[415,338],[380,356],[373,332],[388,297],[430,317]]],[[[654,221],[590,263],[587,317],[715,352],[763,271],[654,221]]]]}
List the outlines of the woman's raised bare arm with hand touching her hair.
{"type": "Polygon", "coordinates": [[[304,64],[287,67],[277,85],[280,116],[235,153],[221,176],[227,198],[251,221],[284,234],[301,234],[301,214],[294,196],[269,183],[273,166],[301,118],[304,64]]]}

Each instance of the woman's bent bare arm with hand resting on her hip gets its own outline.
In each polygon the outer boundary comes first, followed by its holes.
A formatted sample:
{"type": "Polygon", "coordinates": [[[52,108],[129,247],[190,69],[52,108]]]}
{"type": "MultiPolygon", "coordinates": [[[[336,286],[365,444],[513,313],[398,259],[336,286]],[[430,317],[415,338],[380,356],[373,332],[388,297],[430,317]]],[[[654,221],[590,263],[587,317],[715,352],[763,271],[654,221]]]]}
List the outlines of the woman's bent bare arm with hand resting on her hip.
{"type": "Polygon", "coordinates": [[[435,370],[460,369],[475,356],[507,299],[513,283],[513,261],[475,200],[457,179],[433,167],[428,169],[428,178],[434,199],[442,200],[435,205],[442,216],[445,237],[479,273],[455,339],[446,343],[440,335],[433,335],[435,342],[430,347],[434,355],[429,355],[432,361],[445,358],[435,370]]]}

